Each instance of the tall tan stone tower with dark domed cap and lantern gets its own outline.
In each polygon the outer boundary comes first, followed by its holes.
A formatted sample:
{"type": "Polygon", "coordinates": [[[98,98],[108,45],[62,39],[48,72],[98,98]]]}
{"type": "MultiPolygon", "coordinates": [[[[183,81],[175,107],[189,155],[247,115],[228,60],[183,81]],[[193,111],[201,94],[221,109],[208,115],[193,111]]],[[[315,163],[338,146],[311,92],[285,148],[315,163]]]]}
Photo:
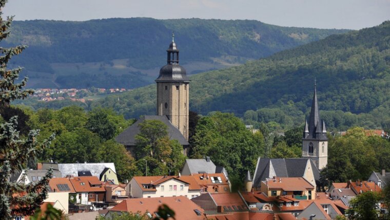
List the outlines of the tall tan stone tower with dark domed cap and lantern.
{"type": "Polygon", "coordinates": [[[167,49],[167,65],[161,67],[157,83],[157,115],[165,115],[188,140],[189,79],[179,65],[179,50],[172,42],[167,49]]]}

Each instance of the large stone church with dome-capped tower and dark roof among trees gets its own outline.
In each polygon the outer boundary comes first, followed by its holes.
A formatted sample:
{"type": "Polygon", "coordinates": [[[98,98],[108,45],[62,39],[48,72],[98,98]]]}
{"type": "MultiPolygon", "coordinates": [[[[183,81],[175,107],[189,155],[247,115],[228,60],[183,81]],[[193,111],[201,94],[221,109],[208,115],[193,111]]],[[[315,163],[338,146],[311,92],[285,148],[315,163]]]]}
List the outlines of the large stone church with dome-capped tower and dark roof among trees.
{"type": "Polygon", "coordinates": [[[167,49],[167,64],[160,69],[157,83],[157,115],[144,116],[116,136],[115,140],[134,155],[135,136],[140,133],[139,123],[144,120],[159,120],[168,127],[170,139],[178,140],[183,145],[183,153],[187,155],[188,143],[188,107],[189,82],[186,70],[179,65],[179,49],[172,34],[172,42],[167,49]]]}

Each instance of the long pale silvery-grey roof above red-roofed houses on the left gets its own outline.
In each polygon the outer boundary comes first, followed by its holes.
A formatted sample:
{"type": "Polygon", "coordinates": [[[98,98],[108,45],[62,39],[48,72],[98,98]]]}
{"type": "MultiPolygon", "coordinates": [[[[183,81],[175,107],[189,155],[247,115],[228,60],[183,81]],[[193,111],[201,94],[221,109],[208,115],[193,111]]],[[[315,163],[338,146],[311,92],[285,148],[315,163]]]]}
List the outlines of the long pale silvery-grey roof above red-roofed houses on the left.
{"type": "Polygon", "coordinates": [[[59,163],[58,167],[62,177],[77,176],[79,171],[90,171],[92,176],[99,178],[105,168],[111,168],[116,173],[114,163],[59,163]]]}

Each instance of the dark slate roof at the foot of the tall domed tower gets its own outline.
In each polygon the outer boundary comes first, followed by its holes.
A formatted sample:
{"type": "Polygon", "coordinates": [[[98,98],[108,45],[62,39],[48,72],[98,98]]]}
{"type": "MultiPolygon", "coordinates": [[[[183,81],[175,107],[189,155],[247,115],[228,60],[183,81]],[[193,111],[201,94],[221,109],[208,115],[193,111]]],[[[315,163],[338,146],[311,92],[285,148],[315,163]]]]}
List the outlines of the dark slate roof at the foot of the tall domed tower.
{"type": "Polygon", "coordinates": [[[161,116],[145,116],[139,119],[134,124],[130,125],[125,131],[116,136],[115,140],[126,146],[135,146],[136,140],[135,135],[140,133],[138,124],[144,120],[159,120],[168,126],[168,136],[170,140],[178,140],[181,145],[189,145],[188,141],[184,138],[179,129],[175,127],[165,115],[161,116]]]}

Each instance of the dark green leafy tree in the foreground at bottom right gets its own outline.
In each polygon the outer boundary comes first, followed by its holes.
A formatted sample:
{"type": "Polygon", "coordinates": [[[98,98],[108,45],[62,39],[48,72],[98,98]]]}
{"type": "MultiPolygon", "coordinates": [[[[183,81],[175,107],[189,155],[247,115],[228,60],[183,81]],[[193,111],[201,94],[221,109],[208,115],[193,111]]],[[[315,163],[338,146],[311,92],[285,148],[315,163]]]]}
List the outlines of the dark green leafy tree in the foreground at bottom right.
{"type": "Polygon", "coordinates": [[[349,201],[350,207],[345,211],[350,220],[379,219],[379,200],[377,192],[367,191],[349,201]]]}

